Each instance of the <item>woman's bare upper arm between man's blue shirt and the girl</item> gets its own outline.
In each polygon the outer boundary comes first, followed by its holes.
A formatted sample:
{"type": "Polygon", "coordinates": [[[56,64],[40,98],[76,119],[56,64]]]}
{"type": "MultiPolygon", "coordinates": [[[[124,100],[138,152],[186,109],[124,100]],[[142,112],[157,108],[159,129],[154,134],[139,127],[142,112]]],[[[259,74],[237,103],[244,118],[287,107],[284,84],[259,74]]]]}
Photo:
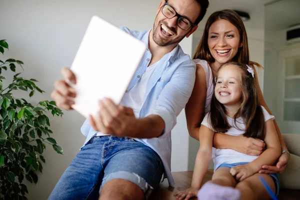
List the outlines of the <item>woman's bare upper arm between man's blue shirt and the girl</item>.
{"type": "Polygon", "coordinates": [[[197,140],[199,140],[199,127],[204,117],[205,100],[206,75],[204,68],[197,64],[195,84],[184,109],[188,133],[197,140]]]}

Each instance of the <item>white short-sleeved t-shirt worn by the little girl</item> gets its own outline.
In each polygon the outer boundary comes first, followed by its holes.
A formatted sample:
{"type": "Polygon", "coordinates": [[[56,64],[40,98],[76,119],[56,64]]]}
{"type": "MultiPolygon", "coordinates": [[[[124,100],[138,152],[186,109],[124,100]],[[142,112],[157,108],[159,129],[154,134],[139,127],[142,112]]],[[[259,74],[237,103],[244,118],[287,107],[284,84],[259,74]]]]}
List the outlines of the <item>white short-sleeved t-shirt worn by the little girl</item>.
{"type": "MultiPolygon", "coordinates": [[[[263,115],[264,115],[264,121],[267,121],[268,119],[274,119],[273,115],[270,115],[266,109],[261,106],[262,110],[263,110],[263,115]]],[[[211,130],[213,130],[213,128],[210,125],[210,118],[209,118],[209,114],[210,112],[208,112],[203,121],[201,122],[202,125],[205,125],[206,127],[210,128],[211,130]]],[[[230,127],[228,129],[227,132],[225,132],[224,134],[229,134],[229,135],[233,135],[233,136],[237,136],[240,134],[244,133],[244,129],[245,129],[245,124],[243,123],[241,117],[236,119],[236,126],[234,124],[234,119],[230,118],[229,116],[227,116],[227,121],[229,123],[230,127]],[[241,130],[239,130],[239,129],[241,130]]],[[[233,149],[219,149],[216,148],[214,155],[212,155],[212,160],[214,162],[214,170],[217,169],[217,167],[223,163],[236,163],[236,162],[251,162],[254,159],[256,159],[258,156],[254,156],[254,155],[247,155],[241,152],[238,152],[236,150],[233,149]]]]}

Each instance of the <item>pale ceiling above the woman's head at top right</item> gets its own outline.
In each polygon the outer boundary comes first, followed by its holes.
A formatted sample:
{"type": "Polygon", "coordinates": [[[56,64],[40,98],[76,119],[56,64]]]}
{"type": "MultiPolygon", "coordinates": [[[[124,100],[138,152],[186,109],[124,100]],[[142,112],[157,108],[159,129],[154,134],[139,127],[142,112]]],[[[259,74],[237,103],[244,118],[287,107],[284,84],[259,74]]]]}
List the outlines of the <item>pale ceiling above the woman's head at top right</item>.
{"type": "Polygon", "coordinates": [[[199,26],[204,27],[208,16],[221,9],[248,12],[246,27],[279,30],[300,23],[300,0],[209,0],[209,7],[199,26]]]}

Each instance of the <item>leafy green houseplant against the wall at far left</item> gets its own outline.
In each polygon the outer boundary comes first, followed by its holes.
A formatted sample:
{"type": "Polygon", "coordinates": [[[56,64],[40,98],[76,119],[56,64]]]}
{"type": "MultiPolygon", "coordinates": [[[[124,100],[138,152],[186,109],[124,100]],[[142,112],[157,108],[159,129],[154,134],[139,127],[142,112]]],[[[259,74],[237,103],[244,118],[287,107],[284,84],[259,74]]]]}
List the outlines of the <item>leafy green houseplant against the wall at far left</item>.
{"type": "MultiPolygon", "coordinates": [[[[7,42],[0,40],[0,52],[8,49],[7,42]]],[[[42,153],[45,143],[62,154],[62,148],[50,136],[49,118],[45,115],[62,116],[62,111],[56,107],[55,101],[41,100],[37,105],[31,105],[24,98],[15,98],[13,91],[25,90],[31,97],[35,91],[44,92],[36,86],[37,80],[25,79],[16,73],[16,67],[22,67],[23,62],[16,59],[0,60],[0,199],[26,199],[28,193],[24,178],[31,183],[37,182],[37,172],[42,172],[42,153]],[[14,72],[12,82],[3,85],[4,70],[14,72]]]]}

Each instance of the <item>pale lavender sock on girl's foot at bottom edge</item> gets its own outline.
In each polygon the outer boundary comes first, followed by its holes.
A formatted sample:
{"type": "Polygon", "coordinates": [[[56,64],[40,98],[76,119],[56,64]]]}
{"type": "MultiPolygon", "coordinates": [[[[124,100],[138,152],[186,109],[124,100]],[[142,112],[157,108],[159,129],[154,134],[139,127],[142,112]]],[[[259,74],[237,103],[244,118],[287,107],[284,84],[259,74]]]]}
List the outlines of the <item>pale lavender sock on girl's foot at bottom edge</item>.
{"type": "Polygon", "coordinates": [[[197,196],[198,200],[238,200],[240,195],[240,191],[233,187],[207,182],[203,184],[197,196]]]}

